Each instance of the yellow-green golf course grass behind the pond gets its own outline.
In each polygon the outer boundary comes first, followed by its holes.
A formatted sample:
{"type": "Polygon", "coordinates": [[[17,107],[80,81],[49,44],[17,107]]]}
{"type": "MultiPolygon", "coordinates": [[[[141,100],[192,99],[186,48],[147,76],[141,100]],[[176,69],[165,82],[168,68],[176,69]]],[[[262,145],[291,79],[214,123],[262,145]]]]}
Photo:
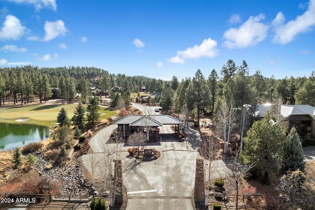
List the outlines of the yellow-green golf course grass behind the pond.
{"type": "MultiPolygon", "coordinates": [[[[73,112],[77,107],[76,104],[54,104],[54,105],[34,105],[23,107],[0,108],[0,122],[7,123],[27,123],[43,126],[57,125],[57,116],[62,108],[68,113],[68,118],[73,117],[73,112]],[[20,118],[28,118],[29,120],[18,122],[20,118]]],[[[87,107],[84,104],[84,107],[87,107]]],[[[101,107],[100,119],[111,118],[116,114],[115,110],[101,107]]]]}

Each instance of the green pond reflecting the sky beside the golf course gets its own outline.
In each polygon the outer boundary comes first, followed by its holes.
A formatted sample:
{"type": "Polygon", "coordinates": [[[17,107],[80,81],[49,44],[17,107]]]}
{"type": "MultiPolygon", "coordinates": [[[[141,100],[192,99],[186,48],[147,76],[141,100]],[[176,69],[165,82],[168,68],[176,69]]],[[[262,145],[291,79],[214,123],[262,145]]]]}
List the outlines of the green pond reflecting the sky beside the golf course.
{"type": "Polygon", "coordinates": [[[33,124],[0,123],[0,150],[23,147],[31,142],[47,139],[50,129],[33,124]]]}

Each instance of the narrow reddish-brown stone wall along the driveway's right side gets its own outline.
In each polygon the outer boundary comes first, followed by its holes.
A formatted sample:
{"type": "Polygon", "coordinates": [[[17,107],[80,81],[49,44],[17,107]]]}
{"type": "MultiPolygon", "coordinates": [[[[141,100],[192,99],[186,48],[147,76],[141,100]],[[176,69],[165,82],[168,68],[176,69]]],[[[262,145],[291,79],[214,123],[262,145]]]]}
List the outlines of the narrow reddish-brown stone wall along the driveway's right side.
{"type": "Polygon", "coordinates": [[[204,187],[204,166],[203,159],[196,160],[196,177],[195,177],[195,202],[202,203],[205,201],[205,187],[204,187]]]}

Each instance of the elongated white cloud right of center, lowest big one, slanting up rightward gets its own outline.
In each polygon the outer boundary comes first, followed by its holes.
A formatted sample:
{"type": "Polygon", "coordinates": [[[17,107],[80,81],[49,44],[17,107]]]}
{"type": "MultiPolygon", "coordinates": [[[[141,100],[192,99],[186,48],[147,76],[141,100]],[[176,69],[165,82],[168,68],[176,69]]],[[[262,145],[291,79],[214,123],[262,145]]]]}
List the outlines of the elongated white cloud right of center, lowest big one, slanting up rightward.
{"type": "Polygon", "coordinates": [[[211,38],[204,39],[200,45],[189,47],[184,51],[177,51],[176,56],[168,59],[167,61],[173,63],[184,63],[187,59],[199,59],[201,57],[213,58],[219,53],[219,50],[216,47],[217,41],[211,38]]]}

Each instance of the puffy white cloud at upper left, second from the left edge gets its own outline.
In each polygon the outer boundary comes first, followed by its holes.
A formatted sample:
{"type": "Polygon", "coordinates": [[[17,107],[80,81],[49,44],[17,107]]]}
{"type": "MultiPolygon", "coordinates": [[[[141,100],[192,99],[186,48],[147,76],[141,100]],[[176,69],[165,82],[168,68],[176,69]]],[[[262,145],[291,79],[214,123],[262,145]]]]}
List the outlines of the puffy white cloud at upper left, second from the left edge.
{"type": "Polygon", "coordinates": [[[46,32],[44,41],[49,41],[57,36],[65,36],[68,32],[67,28],[64,27],[64,22],[62,20],[57,20],[55,22],[46,21],[44,30],[46,32]]]}

